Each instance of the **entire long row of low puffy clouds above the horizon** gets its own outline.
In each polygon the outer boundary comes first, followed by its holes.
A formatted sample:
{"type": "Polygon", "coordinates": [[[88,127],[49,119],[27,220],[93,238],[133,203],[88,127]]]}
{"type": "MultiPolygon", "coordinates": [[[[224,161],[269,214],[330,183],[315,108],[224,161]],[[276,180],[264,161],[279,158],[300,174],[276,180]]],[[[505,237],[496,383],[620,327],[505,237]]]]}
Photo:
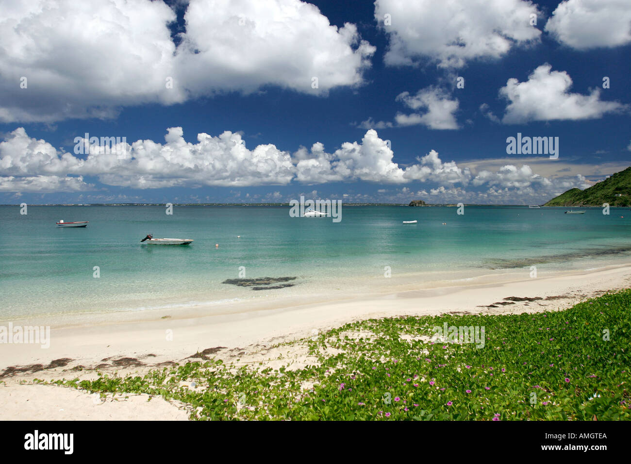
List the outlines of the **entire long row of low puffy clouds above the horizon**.
{"type": "MultiPolygon", "coordinates": [[[[335,182],[374,182],[387,185],[414,182],[435,185],[428,195],[443,197],[463,195],[467,187],[493,198],[511,196],[516,191],[551,196],[572,187],[591,185],[581,174],[545,177],[527,164],[488,164],[472,172],[456,162],[444,162],[430,150],[416,157],[406,167],[394,161],[389,141],[369,129],[361,141],[344,142],[327,152],[322,143],[310,149],[301,146],[294,153],[279,150],[273,144],[245,146],[239,133],[224,131],[218,136],[199,133],[197,143],[184,140],[182,128],[168,128],[165,142],[121,141],[117,145],[90,145],[78,138],[79,148],[86,148],[85,158],[57,150],[45,140],[28,136],[17,128],[0,142],[0,192],[49,193],[85,192],[106,186],[131,189],[165,187],[252,187],[324,185],[335,182]],[[98,179],[103,186],[85,177],[98,179]],[[446,186],[446,187],[445,187],[446,186]],[[482,191],[481,189],[486,189],[482,191]]],[[[563,169],[559,169],[562,171],[563,169]]],[[[411,190],[410,190],[411,191],[411,190]]]]}

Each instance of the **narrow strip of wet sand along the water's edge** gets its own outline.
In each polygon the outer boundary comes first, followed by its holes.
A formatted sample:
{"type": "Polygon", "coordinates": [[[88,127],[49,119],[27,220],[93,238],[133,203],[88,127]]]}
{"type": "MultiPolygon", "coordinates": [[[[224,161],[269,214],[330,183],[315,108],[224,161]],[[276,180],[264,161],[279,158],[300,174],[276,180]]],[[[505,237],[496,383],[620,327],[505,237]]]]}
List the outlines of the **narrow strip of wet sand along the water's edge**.
{"type": "MultiPolygon", "coordinates": [[[[573,260],[567,262],[562,270],[555,266],[538,265],[538,279],[563,277],[565,275],[582,275],[594,271],[622,268],[629,266],[629,256],[601,256],[589,259],[588,262],[573,260]],[[588,264],[589,263],[589,264],[588,264]],[[587,266],[587,267],[586,267],[587,266]]],[[[507,268],[471,268],[458,270],[435,271],[398,271],[392,278],[384,278],[379,272],[360,277],[334,278],[331,282],[317,277],[315,282],[298,283],[289,292],[269,289],[266,292],[249,292],[247,295],[228,294],[196,295],[177,297],[177,299],[156,298],[147,302],[138,302],[140,306],[112,307],[110,309],[84,309],[73,312],[53,312],[48,314],[24,314],[21,316],[0,314],[0,326],[23,323],[24,325],[54,326],[55,328],[97,326],[102,324],[134,323],[155,321],[162,316],[172,318],[196,318],[201,316],[230,316],[257,311],[274,311],[276,309],[304,306],[305,300],[317,298],[322,304],[333,304],[354,299],[366,299],[391,294],[413,292],[415,290],[459,289],[480,285],[503,285],[510,282],[531,280],[530,268],[524,266],[507,268]],[[357,282],[362,282],[357,286],[357,282]],[[303,287],[304,285],[304,287],[303,287]],[[321,291],[320,289],[324,289],[321,291]],[[345,289],[345,290],[341,290],[345,289]],[[200,297],[201,296],[201,297],[200,297]]],[[[300,278],[304,279],[304,276],[300,278]]],[[[288,289],[289,290],[289,289],[288,289]]],[[[186,290],[180,295],[186,294],[186,290]]]]}

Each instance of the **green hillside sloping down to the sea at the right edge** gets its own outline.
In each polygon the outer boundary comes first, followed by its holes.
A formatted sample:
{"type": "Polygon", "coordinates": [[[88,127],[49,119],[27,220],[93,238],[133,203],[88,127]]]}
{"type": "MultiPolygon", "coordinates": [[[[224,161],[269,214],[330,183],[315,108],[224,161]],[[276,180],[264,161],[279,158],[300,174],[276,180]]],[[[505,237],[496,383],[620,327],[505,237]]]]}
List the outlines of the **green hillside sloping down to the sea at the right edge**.
{"type": "Polygon", "coordinates": [[[631,206],[631,167],[588,189],[570,189],[543,206],[631,206]]]}

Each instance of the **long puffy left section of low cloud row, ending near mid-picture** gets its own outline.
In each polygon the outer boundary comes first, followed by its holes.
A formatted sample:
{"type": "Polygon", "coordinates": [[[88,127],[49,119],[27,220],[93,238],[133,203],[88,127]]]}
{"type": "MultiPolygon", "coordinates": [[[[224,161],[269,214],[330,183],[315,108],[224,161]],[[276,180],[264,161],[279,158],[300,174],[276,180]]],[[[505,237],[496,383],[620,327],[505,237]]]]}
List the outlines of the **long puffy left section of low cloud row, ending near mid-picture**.
{"type": "Polygon", "coordinates": [[[289,153],[274,145],[246,148],[240,134],[198,134],[186,142],[182,128],[169,128],[165,143],[121,143],[126,153],[90,146],[86,159],[58,152],[18,128],[0,142],[0,175],[93,175],[103,184],[139,189],[173,186],[288,184],[294,177],[289,153]]]}

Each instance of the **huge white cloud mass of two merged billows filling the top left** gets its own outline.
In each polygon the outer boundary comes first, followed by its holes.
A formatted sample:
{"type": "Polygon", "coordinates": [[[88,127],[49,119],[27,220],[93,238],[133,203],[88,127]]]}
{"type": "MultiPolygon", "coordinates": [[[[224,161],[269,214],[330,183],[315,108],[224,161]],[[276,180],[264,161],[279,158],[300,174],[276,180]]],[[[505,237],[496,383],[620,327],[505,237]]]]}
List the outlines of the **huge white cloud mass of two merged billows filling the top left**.
{"type": "Polygon", "coordinates": [[[115,117],[276,85],[312,95],[363,83],[375,48],[300,0],[191,0],[176,47],[162,0],[0,2],[0,121],[115,117]],[[313,78],[317,78],[317,88],[313,78]]]}

